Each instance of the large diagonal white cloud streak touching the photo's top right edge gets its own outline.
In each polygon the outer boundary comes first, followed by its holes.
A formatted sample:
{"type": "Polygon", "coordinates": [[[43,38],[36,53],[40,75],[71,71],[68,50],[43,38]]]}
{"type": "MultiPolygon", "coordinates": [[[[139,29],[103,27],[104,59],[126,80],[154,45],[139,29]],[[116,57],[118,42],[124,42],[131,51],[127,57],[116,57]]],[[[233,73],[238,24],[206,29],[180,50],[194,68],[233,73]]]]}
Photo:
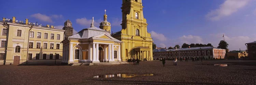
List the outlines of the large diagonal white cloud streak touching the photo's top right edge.
{"type": "Polygon", "coordinates": [[[237,12],[239,8],[244,7],[250,0],[226,0],[218,9],[209,12],[206,17],[216,21],[222,17],[229,16],[237,12]]]}

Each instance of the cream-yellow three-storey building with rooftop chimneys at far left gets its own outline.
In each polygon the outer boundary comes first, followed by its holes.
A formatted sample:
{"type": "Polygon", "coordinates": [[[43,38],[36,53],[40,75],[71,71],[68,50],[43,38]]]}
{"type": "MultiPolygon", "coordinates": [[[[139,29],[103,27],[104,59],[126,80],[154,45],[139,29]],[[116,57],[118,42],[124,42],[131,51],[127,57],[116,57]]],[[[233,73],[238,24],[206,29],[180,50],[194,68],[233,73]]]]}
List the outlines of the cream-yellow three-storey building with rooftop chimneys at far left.
{"type": "Polygon", "coordinates": [[[3,18],[0,21],[0,64],[21,64],[27,60],[62,59],[65,30],[54,26],[3,18]],[[5,58],[6,55],[6,58],[5,58]],[[6,61],[5,61],[6,60],[6,61]]]}

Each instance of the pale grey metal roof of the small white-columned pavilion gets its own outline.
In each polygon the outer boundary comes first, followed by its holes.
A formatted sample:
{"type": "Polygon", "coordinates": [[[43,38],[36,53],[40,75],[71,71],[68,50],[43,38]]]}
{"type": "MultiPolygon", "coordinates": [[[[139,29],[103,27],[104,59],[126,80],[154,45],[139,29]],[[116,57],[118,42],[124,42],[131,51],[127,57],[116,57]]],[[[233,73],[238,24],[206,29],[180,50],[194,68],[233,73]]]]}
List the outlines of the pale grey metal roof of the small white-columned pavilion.
{"type": "MultiPolygon", "coordinates": [[[[97,36],[97,35],[101,35],[101,34],[106,34],[106,35],[110,36],[108,31],[104,31],[104,30],[102,30],[100,28],[97,28],[97,27],[91,27],[91,28],[83,29],[80,32],[76,33],[75,35],[70,36],[69,38],[88,39],[88,38],[91,38],[93,36],[97,36]]],[[[113,37],[111,37],[111,38],[113,38],[113,37]]],[[[113,38],[113,39],[115,39],[115,38],[113,38]]],[[[115,39],[115,41],[116,42],[122,42],[122,41],[117,40],[117,39],[115,39]]]]}

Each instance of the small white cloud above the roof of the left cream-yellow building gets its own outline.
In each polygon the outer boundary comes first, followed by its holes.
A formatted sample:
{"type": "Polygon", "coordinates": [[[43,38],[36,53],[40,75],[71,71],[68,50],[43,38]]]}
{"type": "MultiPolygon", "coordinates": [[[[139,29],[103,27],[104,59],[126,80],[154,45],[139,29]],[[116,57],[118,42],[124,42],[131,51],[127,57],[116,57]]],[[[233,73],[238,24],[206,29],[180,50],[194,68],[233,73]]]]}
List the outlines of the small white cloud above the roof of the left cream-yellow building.
{"type": "Polygon", "coordinates": [[[42,15],[40,13],[32,14],[31,17],[34,17],[36,19],[39,19],[39,20],[42,20],[42,21],[45,21],[45,22],[51,22],[51,23],[53,22],[53,20],[49,16],[42,15]]]}

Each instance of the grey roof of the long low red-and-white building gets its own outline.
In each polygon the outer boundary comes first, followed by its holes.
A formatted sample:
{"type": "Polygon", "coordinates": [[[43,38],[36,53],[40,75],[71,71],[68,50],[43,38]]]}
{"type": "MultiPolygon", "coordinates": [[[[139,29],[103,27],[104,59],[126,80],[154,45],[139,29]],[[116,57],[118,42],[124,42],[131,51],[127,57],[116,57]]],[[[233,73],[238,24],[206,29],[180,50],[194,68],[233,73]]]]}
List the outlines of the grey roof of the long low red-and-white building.
{"type": "Polygon", "coordinates": [[[208,47],[179,48],[179,49],[158,50],[158,51],[154,51],[153,50],[153,52],[160,52],[160,51],[185,51],[185,50],[198,50],[198,49],[221,49],[221,48],[216,48],[216,47],[208,46],[208,47]]]}

